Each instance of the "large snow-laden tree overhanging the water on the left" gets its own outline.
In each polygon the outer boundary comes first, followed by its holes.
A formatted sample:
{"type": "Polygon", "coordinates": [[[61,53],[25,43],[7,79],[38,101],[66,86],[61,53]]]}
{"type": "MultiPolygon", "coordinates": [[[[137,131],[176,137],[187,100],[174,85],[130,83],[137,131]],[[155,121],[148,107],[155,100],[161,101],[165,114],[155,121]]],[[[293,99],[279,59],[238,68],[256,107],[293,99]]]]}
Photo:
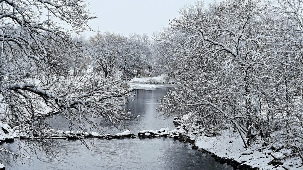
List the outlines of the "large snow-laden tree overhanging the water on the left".
{"type": "Polygon", "coordinates": [[[68,76],[71,61],[83,57],[72,34],[90,29],[87,22],[95,18],[86,6],[85,0],[0,1],[1,124],[14,126],[34,153],[53,154],[51,147],[58,144],[44,136],[51,127],[39,117],[46,109],[65,117],[70,129],[82,131],[85,123],[101,130],[94,119],[117,125],[130,117],[122,105],[132,89],[122,86],[121,76],[68,76]]]}

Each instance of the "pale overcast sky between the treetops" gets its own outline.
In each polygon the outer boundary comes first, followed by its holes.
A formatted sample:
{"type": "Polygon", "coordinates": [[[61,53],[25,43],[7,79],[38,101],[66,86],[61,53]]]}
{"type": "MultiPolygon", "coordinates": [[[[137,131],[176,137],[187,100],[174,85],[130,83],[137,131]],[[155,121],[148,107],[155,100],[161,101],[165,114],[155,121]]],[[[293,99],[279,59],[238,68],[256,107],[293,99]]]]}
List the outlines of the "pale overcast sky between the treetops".
{"type": "MultiPolygon", "coordinates": [[[[151,35],[169,19],[178,16],[178,9],[195,0],[88,0],[88,9],[98,18],[89,21],[92,28],[100,33],[105,31],[128,35],[131,32],[151,35]]],[[[213,0],[205,0],[205,4],[213,0]]],[[[85,31],[86,37],[97,32],[85,31]]]]}

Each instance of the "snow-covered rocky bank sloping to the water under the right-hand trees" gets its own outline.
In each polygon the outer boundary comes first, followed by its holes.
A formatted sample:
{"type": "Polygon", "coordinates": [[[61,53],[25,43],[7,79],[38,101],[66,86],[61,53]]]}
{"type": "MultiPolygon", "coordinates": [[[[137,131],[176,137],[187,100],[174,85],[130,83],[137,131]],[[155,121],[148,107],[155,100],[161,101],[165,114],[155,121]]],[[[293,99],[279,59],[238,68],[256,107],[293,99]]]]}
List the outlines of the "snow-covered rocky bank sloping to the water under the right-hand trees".
{"type": "Polygon", "coordinates": [[[188,115],[175,118],[175,126],[178,126],[180,133],[187,136],[197,148],[213,153],[213,157],[220,163],[231,163],[234,168],[252,168],[261,170],[299,170],[303,169],[299,156],[293,156],[290,149],[283,145],[254,144],[245,149],[240,136],[226,129],[218,136],[198,135],[201,130],[197,124],[186,123],[188,115]]]}

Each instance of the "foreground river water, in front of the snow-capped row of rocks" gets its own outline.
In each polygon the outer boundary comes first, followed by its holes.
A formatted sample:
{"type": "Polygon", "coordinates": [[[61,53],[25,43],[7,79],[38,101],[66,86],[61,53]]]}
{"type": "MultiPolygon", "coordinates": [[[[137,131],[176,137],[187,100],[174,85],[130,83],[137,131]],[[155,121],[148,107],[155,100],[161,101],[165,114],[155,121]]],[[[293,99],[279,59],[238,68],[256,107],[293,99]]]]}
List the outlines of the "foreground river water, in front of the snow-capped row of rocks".
{"type": "MultiPolygon", "coordinates": [[[[39,153],[41,162],[34,158],[33,163],[7,169],[144,169],[144,170],[230,170],[228,165],[215,162],[207,153],[191,149],[188,144],[172,139],[121,139],[95,140],[93,151],[85,149],[79,141],[63,141],[56,148],[63,159],[61,162],[39,153]]],[[[15,145],[15,144],[13,144],[15,145]]]]}

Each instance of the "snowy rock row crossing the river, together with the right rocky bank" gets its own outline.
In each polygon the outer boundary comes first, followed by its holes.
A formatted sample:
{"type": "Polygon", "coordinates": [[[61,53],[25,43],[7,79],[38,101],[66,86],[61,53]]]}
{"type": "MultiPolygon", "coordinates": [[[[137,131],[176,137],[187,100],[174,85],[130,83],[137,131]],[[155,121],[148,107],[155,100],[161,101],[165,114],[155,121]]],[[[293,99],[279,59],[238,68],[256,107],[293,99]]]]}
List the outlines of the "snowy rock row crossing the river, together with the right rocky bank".
{"type": "MultiPolygon", "coordinates": [[[[285,157],[280,159],[275,155],[278,151],[273,146],[255,148],[252,146],[249,149],[241,150],[241,140],[238,140],[237,136],[229,134],[226,136],[198,136],[199,127],[196,125],[190,126],[184,122],[184,119],[175,117],[173,123],[176,129],[170,130],[169,128],[161,128],[160,130],[142,130],[138,132],[138,136],[132,134],[129,131],[117,133],[116,135],[107,134],[99,135],[96,132],[70,132],[63,130],[51,130],[45,132],[45,138],[49,139],[84,139],[84,138],[99,138],[99,139],[124,139],[124,138],[171,138],[173,140],[179,140],[180,142],[190,143],[192,149],[209,154],[216,162],[220,164],[228,164],[233,168],[247,169],[247,170],[299,170],[302,169],[302,163],[295,161],[294,158],[285,157]],[[214,144],[215,142],[215,144],[214,144]],[[229,150],[226,146],[229,146],[229,150]],[[234,146],[234,147],[233,147],[234,146]],[[238,148],[237,148],[238,147],[238,148]],[[238,150],[237,150],[238,149],[238,150]],[[290,163],[287,161],[291,161],[290,163]]],[[[4,126],[8,132],[5,141],[2,142],[14,142],[13,138],[27,139],[28,136],[22,136],[18,134],[17,129],[4,126]],[[13,134],[12,134],[13,133],[13,134]]],[[[5,135],[5,136],[6,136],[5,135]]],[[[282,149],[283,150],[283,149],[282,149]]],[[[287,149],[284,149],[287,151],[287,149]]],[[[297,158],[296,158],[297,159],[297,158]]]]}

